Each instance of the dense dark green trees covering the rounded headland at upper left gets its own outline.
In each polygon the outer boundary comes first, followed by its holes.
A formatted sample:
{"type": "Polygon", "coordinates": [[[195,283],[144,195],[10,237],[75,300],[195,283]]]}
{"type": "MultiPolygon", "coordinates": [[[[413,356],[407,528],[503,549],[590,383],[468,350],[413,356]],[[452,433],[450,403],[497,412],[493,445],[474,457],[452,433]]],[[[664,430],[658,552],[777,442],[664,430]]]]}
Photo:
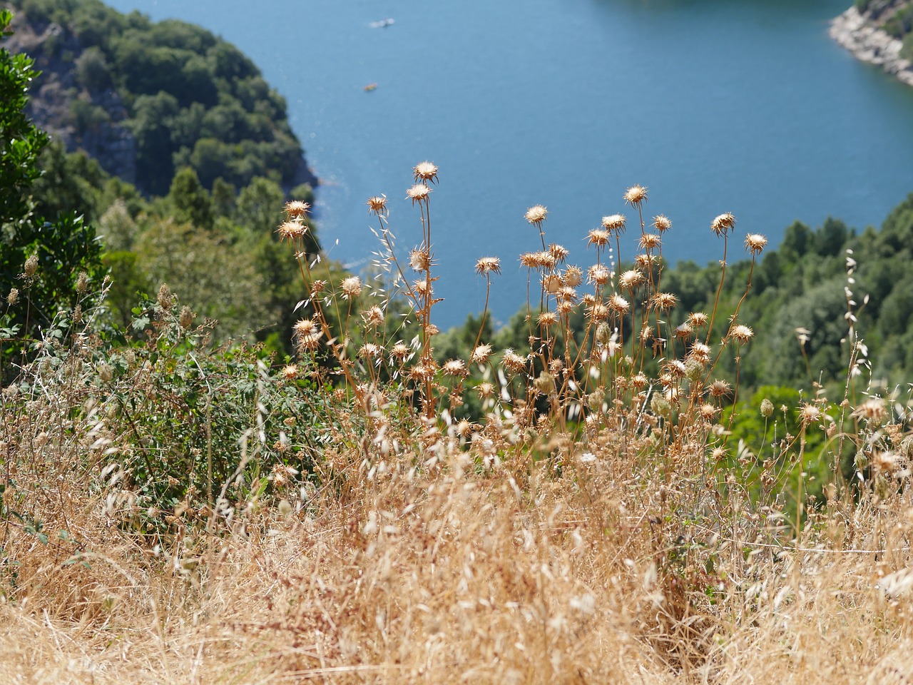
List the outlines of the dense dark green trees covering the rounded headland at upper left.
{"type": "Polygon", "coordinates": [[[83,142],[111,123],[125,128],[143,193],[164,195],[185,166],[207,189],[218,178],[241,187],[265,176],[286,189],[309,180],[285,100],[230,43],[181,21],[122,15],[100,0],[12,5],[44,37],[31,50],[38,68],[68,88],[68,121],[49,123],[71,125],[83,142]]]}

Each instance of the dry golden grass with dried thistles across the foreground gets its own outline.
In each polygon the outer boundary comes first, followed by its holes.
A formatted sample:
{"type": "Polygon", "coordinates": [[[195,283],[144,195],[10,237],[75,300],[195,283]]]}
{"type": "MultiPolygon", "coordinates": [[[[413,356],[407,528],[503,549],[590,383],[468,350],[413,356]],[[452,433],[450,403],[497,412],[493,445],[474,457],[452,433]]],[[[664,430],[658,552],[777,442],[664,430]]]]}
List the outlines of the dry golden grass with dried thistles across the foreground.
{"type": "MultiPolygon", "coordinates": [[[[61,364],[39,360],[29,384],[5,390],[0,681],[913,683],[905,416],[877,400],[851,413],[847,402],[834,428],[819,399],[770,467],[740,469],[719,424],[730,388],[711,374],[750,329],[732,321],[711,350],[717,312],[692,316],[704,328],[687,329],[677,359],[675,302],[650,258],[658,238],[642,240],[646,268],[624,285],[609,245],[617,216],[591,232],[591,296],[558,296],[552,280],[581,281],[541,257],[561,254],[545,246],[544,207],[528,215],[543,247],[530,263],[544,259],[530,267],[541,283],[531,300],[553,316],[530,304],[530,355],[438,367],[426,192],[436,171],[417,166],[410,191],[423,227],[412,285],[385,201],[372,198],[388,277],[377,311],[353,309],[361,281],[343,280],[338,299],[316,287],[299,255],[316,305],[298,331],[299,365],[318,369],[328,401],[312,406],[320,446],[303,446],[316,455],[316,487],[283,477],[268,495],[223,489],[224,501],[203,507],[188,491],[158,512],[166,532],[141,535],[148,503],[119,461],[139,434],[106,424],[82,348],[58,350],[61,364]],[[396,288],[418,327],[400,356],[395,335],[372,323],[396,288]],[[621,295],[630,310],[603,306],[621,295]],[[570,341],[578,306],[582,342],[562,348],[552,331],[570,341]],[[328,352],[335,378],[314,365],[328,352]],[[477,385],[473,366],[499,379],[479,425],[455,418],[477,385]],[[852,443],[866,479],[846,483],[834,467],[821,508],[787,521],[777,495],[803,474],[786,467],[803,463],[806,431],[820,429],[834,464],[852,443]]],[[[647,236],[645,190],[628,195],[647,236]]],[[[291,208],[283,230],[297,244],[304,210],[291,208]]],[[[668,229],[662,219],[653,235],[668,229]]],[[[725,239],[733,222],[720,215],[714,230],[725,239]]],[[[484,264],[490,287],[497,265],[484,264]]]]}

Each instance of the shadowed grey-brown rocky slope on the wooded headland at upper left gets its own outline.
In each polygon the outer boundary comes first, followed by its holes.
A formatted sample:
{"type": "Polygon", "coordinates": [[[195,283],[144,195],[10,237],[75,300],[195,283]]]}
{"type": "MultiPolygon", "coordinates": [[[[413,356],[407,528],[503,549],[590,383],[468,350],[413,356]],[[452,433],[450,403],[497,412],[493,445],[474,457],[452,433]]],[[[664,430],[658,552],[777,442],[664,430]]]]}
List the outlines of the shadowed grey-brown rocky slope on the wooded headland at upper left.
{"type": "Polygon", "coordinates": [[[57,24],[41,33],[27,22],[14,21],[16,33],[5,47],[26,52],[42,74],[30,93],[28,115],[37,126],[63,142],[68,152],[83,150],[109,174],[136,183],[137,145],[124,125],[128,112],[112,88],[95,92],[79,84],[76,65],[84,53],[79,40],[57,24]],[[54,49],[45,49],[53,43],[54,49]],[[80,106],[74,107],[79,101],[80,106]],[[79,111],[86,112],[78,116],[79,111]]]}

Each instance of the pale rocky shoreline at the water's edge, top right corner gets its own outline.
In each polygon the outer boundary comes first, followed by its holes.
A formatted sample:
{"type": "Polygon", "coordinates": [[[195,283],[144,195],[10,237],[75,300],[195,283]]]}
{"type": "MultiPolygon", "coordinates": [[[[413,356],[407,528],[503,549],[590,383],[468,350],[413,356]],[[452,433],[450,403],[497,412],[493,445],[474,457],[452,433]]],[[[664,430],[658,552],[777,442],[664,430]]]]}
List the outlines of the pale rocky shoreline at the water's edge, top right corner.
{"type": "Polygon", "coordinates": [[[908,5],[902,0],[879,0],[869,3],[863,12],[850,7],[831,22],[830,35],[855,58],[875,64],[913,86],[913,65],[901,57],[903,42],[883,28],[891,16],[908,5]]]}

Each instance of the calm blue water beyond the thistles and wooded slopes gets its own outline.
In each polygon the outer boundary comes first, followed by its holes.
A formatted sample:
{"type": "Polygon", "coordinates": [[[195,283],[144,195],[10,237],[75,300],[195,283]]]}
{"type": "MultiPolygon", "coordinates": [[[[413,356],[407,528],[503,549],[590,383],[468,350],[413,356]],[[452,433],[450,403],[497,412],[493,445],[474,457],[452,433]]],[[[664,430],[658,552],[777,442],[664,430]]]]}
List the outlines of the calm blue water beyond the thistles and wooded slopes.
{"type": "Polygon", "coordinates": [[[517,256],[539,244],[523,219],[533,204],[584,269],[587,230],[635,214],[622,201],[631,184],[649,188],[649,216],[672,219],[673,260],[718,259],[708,226],[727,211],[740,236],[773,244],[795,219],[880,224],[913,191],[913,89],[830,40],[828,20],[849,4],[110,0],[201,24],[257,62],[326,182],[320,236],[333,258],[370,258],[364,202],[382,193],[400,247],[413,247],[405,189],[415,163],[437,163],[442,328],[481,310],[482,256],[502,259],[498,319],[525,302],[517,256]]]}

